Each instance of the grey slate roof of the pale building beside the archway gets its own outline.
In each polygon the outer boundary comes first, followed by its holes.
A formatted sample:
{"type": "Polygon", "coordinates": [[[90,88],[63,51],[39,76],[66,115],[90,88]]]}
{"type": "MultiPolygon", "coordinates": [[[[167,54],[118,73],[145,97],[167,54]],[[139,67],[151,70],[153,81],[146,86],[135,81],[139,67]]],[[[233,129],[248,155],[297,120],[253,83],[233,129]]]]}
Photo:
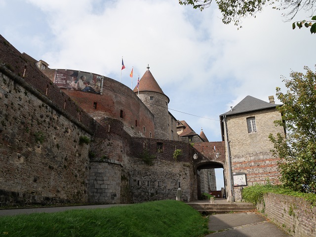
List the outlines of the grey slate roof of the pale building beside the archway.
{"type": "Polygon", "coordinates": [[[225,114],[222,114],[220,116],[236,115],[236,114],[242,114],[242,113],[247,113],[251,111],[276,108],[276,106],[281,106],[281,105],[269,103],[263,100],[259,100],[250,95],[247,95],[242,101],[240,101],[235,107],[233,107],[232,111],[228,111],[225,114]]]}

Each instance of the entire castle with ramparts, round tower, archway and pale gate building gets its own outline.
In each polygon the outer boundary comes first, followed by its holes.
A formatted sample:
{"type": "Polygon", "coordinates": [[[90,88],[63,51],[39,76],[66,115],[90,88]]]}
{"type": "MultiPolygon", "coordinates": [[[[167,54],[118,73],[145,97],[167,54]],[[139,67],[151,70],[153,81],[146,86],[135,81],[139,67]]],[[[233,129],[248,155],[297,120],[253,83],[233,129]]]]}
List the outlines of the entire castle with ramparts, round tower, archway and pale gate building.
{"type": "Polygon", "coordinates": [[[49,69],[2,36],[0,52],[1,205],[135,203],[174,199],[178,188],[193,201],[213,177],[203,170],[214,168],[224,168],[230,199],[241,200],[244,186],[277,182],[267,138],[279,131],[274,103],[246,97],[220,116],[223,140],[209,142],[172,116],[149,67],[131,90],[49,69]]]}

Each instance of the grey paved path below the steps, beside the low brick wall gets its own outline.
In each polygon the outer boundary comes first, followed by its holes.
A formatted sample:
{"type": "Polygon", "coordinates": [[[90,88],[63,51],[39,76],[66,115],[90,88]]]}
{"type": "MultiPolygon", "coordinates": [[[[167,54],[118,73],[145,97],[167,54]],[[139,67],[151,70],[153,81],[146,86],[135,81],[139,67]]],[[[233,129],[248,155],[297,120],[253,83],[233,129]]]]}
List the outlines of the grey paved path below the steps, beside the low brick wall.
{"type": "Polygon", "coordinates": [[[289,237],[275,224],[255,212],[216,214],[209,216],[208,227],[215,233],[206,237],[289,237]]]}

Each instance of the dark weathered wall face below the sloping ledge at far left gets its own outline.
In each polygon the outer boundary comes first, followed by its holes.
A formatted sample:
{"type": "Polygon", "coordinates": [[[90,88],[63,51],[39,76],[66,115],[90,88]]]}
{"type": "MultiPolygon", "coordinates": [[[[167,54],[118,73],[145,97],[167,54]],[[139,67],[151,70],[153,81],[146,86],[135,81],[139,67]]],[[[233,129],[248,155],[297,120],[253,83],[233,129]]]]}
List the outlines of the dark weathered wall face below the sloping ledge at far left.
{"type": "Polygon", "coordinates": [[[1,204],[86,202],[89,129],[0,70],[1,204]]]}

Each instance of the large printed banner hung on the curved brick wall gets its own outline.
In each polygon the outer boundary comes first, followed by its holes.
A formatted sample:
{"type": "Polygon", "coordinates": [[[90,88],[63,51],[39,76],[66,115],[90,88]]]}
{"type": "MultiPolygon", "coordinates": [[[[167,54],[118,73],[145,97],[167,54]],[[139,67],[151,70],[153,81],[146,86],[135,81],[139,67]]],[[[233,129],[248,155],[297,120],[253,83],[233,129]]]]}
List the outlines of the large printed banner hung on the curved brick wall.
{"type": "Polygon", "coordinates": [[[102,94],[102,76],[73,70],[56,70],[54,83],[64,89],[102,94]]]}

